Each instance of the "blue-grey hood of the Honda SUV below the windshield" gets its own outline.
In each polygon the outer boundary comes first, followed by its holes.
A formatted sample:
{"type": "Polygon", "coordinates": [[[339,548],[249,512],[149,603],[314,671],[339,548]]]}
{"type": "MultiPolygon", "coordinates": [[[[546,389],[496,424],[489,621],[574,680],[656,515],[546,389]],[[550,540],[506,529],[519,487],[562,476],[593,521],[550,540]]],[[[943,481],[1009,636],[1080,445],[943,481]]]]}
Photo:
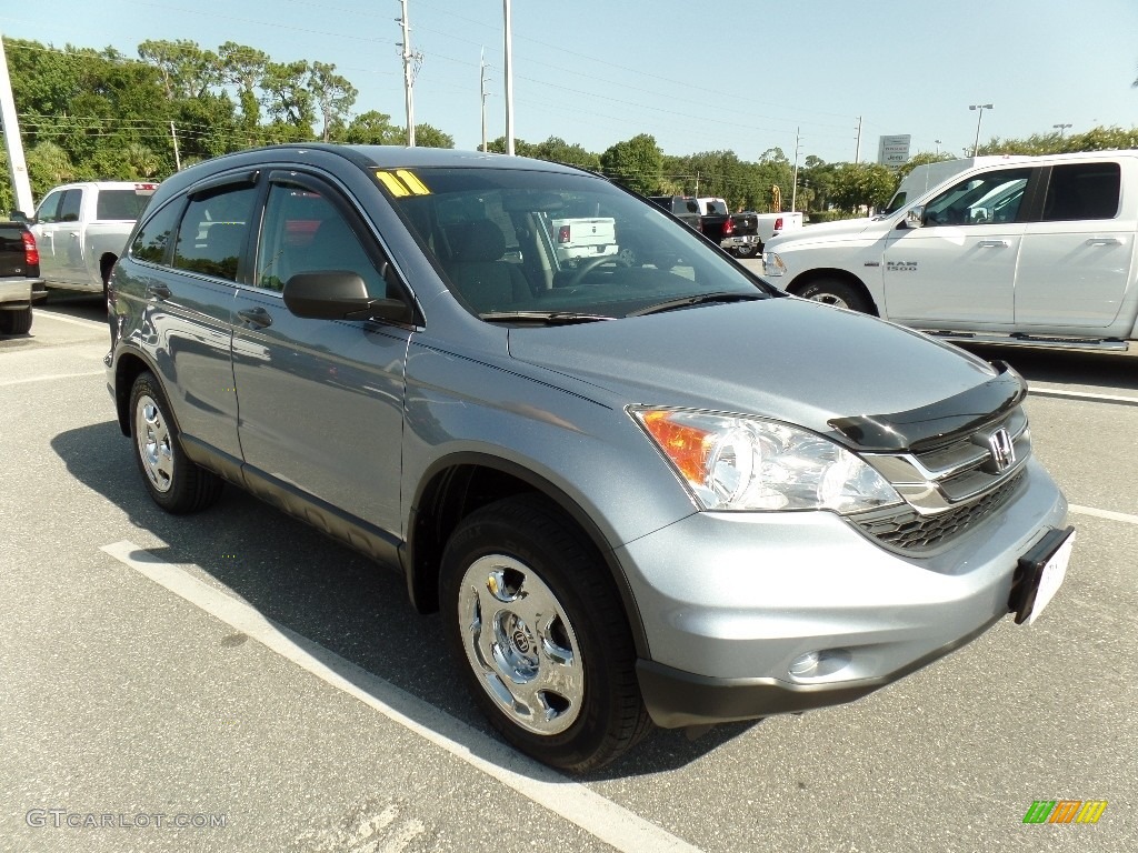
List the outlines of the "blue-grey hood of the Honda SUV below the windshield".
{"type": "Polygon", "coordinates": [[[956,347],[791,298],[513,329],[510,354],[595,386],[599,401],[615,407],[753,414],[828,434],[833,421],[974,401],[970,392],[997,376],[956,347]]]}

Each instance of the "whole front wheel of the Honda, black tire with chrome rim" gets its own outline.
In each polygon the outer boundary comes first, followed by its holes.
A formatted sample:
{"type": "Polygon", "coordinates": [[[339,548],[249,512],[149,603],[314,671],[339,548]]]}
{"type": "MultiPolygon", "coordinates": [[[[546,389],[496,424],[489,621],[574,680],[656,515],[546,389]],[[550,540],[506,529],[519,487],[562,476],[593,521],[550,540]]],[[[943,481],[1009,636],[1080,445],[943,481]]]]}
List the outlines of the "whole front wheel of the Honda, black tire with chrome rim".
{"type": "Polygon", "coordinates": [[[442,573],[447,641],[509,743],[585,772],[650,730],[620,598],[556,507],[530,495],[471,513],[446,544],[442,573]]]}

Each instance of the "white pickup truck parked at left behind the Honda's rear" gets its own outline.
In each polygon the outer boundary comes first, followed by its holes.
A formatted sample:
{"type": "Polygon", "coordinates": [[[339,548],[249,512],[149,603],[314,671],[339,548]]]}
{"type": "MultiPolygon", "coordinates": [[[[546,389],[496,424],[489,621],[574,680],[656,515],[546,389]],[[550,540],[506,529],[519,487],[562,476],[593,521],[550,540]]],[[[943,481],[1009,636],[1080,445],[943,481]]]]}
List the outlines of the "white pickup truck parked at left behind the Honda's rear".
{"type": "Polygon", "coordinates": [[[35,216],[22,212],[40,247],[40,266],[49,288],[106,293],[107,278],[156,183],[99,181],[56,187],[35,216]]]}

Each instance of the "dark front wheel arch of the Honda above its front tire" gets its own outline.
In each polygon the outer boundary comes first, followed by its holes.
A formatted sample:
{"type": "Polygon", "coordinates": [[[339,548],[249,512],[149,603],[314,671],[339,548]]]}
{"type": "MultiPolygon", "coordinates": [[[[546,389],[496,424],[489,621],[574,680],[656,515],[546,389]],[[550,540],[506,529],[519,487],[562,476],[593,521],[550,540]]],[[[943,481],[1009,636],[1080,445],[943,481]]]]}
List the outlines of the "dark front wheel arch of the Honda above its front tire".
{"type": "Polygon", "coordinates": [[[446,456],[431,465],[420,482],[401,554],[414,607],[420,613],[439,608],[443,549],[459,522],[487,504],[522,494],[544,497],[583,533],[612,578],[637,654],[648,656],[648,639],[635,598],[600,525],[555,483],[521,464],[490,454],[463,452],[446,456]]]}

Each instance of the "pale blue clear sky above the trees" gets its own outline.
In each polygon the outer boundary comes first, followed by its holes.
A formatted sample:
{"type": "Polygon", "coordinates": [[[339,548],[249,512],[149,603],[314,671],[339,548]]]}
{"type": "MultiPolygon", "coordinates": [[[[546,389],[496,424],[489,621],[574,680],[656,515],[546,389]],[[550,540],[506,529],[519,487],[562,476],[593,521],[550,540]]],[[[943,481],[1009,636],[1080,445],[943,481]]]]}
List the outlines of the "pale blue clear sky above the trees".
{"type": "MultiPolygon", "coordinates": [[[[971,154],[1021,139],[1138,126],[1138,0],[511,0],[514,136],[597,154],[640,133],[668,155],[874,162],[971,154]],[[731,9],[729,14],[719,9],[731,9]],[[972,105],[991,109],[970,110],[972,105]],[[858,129],[860,127],[860,142],[858,129]]],[[[406,0],[415,123],[481,142],[505,133],[502,0],[406,0]]],[[[35,0],[0,7],[0,33],[61,48],[225,41],[275,61],[336,65],[354,113],[405,123],[399,0],[35,0]]],[[[17,103],[17,111],[19,105],[17,103]]]]}

